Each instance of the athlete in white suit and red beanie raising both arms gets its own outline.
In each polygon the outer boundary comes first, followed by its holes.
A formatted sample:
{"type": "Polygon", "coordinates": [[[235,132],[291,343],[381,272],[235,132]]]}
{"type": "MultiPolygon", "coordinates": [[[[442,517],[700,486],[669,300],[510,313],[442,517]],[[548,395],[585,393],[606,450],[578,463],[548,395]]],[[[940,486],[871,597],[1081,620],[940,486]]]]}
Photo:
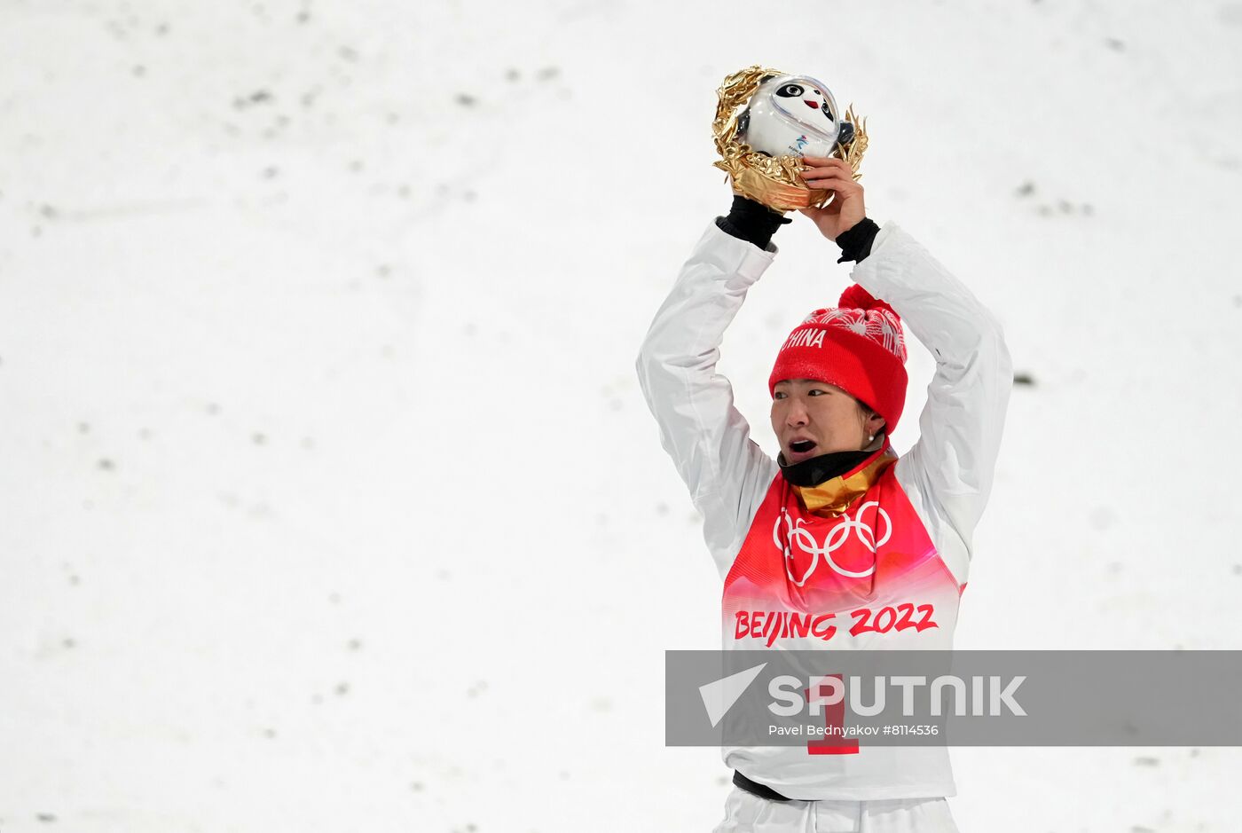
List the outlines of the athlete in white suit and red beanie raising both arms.
{"type": "MultiPolygon", "coordinates": [[[[948,651],[971,534],[987,503],[1012,365],[992,314],[909,233],[867,218],[840,159],[802,178],[832,192],[802,215],[854,261],[856,282],[779,345],[768,380],[773,461],[715,372],[725,328],[791,222],[734,197],[682,267],[643,340],[638,379],[703,515],[724,581],[725,649],[948,651]],[[918,442],[903,322],[935,359],[918,442]]],[[[715,833],[956,831],[944,746],[725,746],[734,787],[715,833]]]]}

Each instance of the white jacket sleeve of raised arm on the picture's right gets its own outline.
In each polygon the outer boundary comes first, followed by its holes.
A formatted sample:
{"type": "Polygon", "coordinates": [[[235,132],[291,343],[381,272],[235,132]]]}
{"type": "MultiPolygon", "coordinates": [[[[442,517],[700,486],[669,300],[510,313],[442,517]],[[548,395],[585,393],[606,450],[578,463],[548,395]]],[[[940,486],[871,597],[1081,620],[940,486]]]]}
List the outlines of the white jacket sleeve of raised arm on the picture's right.
{"type": "Polygon", "coordinates": [[[1001,325],[970,289],[892,222],[851,277],[888,302],[935,359],[919,415],[919,439],[894,473],[924,515],[945,564],[964,583],[1013,385],[1001,325]]]}

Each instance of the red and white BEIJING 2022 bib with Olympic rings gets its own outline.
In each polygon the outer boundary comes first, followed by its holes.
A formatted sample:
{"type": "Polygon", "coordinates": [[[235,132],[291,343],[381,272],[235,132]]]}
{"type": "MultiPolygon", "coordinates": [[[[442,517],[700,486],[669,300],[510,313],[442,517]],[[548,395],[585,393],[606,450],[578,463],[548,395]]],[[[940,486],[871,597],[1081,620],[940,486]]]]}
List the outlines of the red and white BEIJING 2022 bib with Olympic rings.
{"type": "MultiPolygon", "coordinates": [[[[951,648],[960,588],[897,482],[892,452],[825,485],[843,494],[836,507],[843,511],[811,511],[804,490],[779,473],[773,480],[724,582],[725,649],[951,648]]],[[[954,793],[944,747],[863,741],[841,754],[799,746],[723,752],[730,767],[790,798],[954,793]]]]}

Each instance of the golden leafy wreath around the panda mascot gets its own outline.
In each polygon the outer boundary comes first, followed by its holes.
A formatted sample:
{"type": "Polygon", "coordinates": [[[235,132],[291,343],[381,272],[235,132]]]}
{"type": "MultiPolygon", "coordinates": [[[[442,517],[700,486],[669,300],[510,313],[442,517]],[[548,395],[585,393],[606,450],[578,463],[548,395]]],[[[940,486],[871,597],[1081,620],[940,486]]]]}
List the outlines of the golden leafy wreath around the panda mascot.
{"type": "MultiPolygon", "coordinates": [[[[802,181],[799,174],[802,160],[799,156],[769,156],[738,142],[735,137],[739,109],[745,107],[765,78],[784,74],[789,73],[755,65],[725,76],[715,91],[718,102],[715,119],[712,122],[715,149],[720,159],[712,164],[729,175],[734,194],[763,202],[780,212],[811,206],[818,209],[828,200],[828,191],[811,189],[802,181]]],[[[867,119],[858,120],[853,104],[843,118],[853,125],[854,137],[850,144],[838,143],[836,150],[841,159],[850,164],[857,181],[862,178],[858,165],[867,150],[867,119]]]]}

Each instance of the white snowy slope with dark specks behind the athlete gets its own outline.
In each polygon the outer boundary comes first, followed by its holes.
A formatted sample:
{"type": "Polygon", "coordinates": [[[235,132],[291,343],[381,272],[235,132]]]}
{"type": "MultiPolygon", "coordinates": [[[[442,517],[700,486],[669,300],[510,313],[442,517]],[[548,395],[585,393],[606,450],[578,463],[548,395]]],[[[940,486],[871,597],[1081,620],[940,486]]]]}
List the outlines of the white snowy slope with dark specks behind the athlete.
{"type": "MultiPolygon", "coordinates": [[[[709,831],[719,582],[633,360],[715,87],[867,117],[1017,371],[959,648],[1240,648],[1242,4],[0,2],[0,831],[709,831]]],[[[720,369],[848,282],[804,217],[720,369]]],[[[932,361],[912,350],[915,438],[932,361]]],[[[1236,749],[958,749],[963,831],[1242,831],[1236,749]]]]}

